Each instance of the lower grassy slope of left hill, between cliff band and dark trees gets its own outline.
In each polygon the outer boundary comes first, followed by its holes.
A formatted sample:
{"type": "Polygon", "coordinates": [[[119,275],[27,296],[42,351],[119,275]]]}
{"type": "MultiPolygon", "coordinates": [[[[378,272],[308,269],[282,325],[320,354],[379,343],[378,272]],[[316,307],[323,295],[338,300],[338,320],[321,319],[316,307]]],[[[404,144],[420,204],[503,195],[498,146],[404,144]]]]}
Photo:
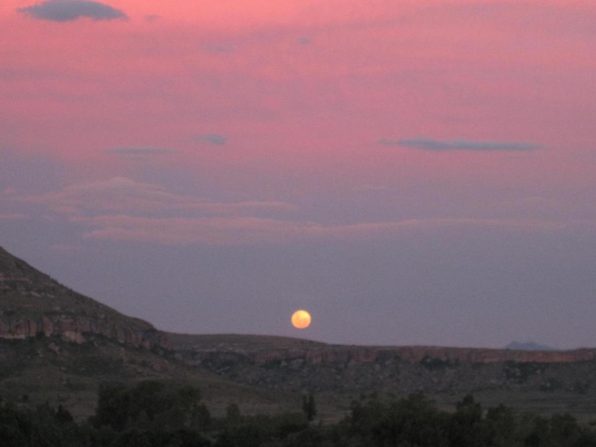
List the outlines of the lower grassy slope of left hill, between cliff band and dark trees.
{"type": "Polygon", "coordinates": [[[229,403],[243,412],[299,408],[300,396],[254,389],[187,367],[172,356],[160,356],[97,338],[74,344],[58,338],[0,340],[0,396],[31,404],[48,401],[69,408],[79,418],[92,415],[102,381],[175,380],[198,386],[214,414],[229,403]],[[49,348],[58,347],[58,353],[49,348]]]}

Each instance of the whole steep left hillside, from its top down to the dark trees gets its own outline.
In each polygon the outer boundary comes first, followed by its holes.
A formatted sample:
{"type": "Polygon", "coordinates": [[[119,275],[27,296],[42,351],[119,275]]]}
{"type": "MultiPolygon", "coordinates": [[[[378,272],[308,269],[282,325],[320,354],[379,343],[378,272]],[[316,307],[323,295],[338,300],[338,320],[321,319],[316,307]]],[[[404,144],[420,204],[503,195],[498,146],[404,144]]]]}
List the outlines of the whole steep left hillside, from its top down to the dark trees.
{"type": "Polygon", "coordinates": [[[200,387],[214,412],[229,402],[243,411],[299,405],[231,383],[177,359],[166,333],[82,296],[0,248],[0,397],[61,403],[93,414],[101,381],[176,380],[200,387]]]}

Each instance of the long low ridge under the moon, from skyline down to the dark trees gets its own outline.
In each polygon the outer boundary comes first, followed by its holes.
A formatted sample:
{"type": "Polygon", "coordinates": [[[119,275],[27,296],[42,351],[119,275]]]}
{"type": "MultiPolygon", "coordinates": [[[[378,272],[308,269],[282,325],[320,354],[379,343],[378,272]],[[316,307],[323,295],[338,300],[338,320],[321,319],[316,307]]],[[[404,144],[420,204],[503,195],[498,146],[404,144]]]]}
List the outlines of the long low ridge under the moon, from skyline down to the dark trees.
{"type": "Polygon", "coordinates": [[[284,337],[170,334],[203,371],[260,389],[312,392],[333,408],[362,393],[423,392],[446,408],[466,393],[520,411],[596,414],[596,350],[343,346],[284,337]]]}

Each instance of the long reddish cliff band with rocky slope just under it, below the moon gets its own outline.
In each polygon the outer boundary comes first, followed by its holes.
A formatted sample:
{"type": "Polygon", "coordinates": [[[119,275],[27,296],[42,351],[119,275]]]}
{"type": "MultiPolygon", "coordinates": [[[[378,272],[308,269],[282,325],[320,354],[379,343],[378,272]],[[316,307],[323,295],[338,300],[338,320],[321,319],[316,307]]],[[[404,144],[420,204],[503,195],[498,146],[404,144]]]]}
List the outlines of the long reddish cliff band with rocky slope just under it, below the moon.
{"type": "MultiPolygon", "coordinates": [[[[429,346],[312,344],[257,349],[179,343],[188,364],[253,386],[291,391],[454,393],[520,390],[596,392],[596,350],[523,352],[429,346]],[[181,347],[184,345],[184,348],[181,347]]],[[[200,336],[194,337],[200,340],[200,336]]],[[[224,340],[224,341],[222,341],[224,340]]]]}

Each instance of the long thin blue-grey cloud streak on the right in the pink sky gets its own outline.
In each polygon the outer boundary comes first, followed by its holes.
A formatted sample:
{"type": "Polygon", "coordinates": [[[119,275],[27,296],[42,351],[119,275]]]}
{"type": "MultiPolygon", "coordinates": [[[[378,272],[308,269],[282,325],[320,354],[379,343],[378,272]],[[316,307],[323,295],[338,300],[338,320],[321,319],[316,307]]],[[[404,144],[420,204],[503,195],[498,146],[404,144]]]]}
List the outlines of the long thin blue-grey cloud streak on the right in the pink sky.
{"type": "Polygon", "coordinates": [[[471,141],[468,139],[439,140],[433,138],[406,138],[387,139],[381,138],[379,144],[384,146],[401,146],[425,151],[531,151],[541,149],[536,144],[505,142],[505,141],[471,141]]]}

